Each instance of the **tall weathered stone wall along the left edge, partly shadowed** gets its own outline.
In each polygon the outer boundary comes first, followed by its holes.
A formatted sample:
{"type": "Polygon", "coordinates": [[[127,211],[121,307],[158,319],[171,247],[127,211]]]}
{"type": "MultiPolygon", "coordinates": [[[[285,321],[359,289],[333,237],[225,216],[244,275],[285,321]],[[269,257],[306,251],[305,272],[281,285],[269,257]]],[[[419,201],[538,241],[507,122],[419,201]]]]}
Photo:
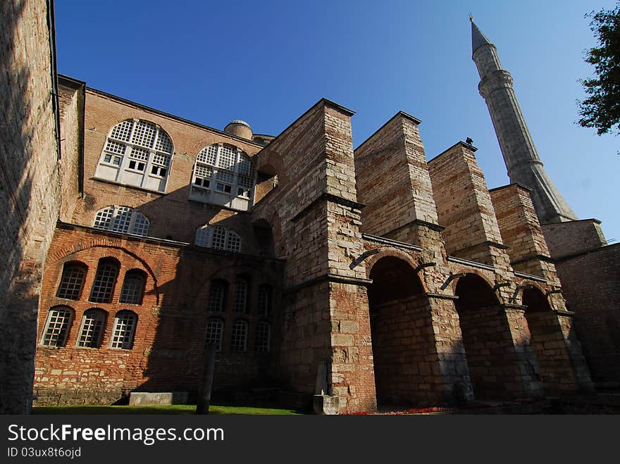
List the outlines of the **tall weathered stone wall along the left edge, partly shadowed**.
{"type": "Polygon", "coordinates": [[[58,182],[48,10],[0,5],[0,413],[32,402],[37,307],[46,251],[66,187],[58,182]]]}

